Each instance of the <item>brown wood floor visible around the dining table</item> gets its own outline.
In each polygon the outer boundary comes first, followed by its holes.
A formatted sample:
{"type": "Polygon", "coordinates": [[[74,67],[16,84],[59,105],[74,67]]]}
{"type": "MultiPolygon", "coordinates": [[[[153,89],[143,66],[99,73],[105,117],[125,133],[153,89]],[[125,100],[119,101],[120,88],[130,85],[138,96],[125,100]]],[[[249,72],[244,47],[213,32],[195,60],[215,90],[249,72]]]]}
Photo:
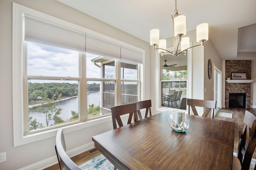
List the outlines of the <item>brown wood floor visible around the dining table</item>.
{"type": "MultiPolygon", "coordinates": [[[[256,109],[250,108],[222,108],[220,109],[220,112],[224,113],[232,113],[232,118],[228,117],[222,117],[222,116],[216,116],[214,119],[224,120],[224,121],[231,121],[235,123],[235,139],[234,139],[234,152],[237,151],[238,143],[239,143],[239,137],[242,132],[242,129],[244,127],[243,119],[244,119],[244,112],[245,110],[248,110],[256,115],[256,109]]],[[[99,151],[94,152],[93,154],[89,155],[87,152],[83,152],[77,156],[72,157],[71,159],[77,164],[80,165],[96,156],[100,155],[99,151]]],[[[254,152],[253,158],[256,158],[256,152],[254,152]]],[[[53,166],[50,166],[49,168],[46,168],[44,170],[60,170],[60,167],[58,164],[55,164],[53,166]]]]}

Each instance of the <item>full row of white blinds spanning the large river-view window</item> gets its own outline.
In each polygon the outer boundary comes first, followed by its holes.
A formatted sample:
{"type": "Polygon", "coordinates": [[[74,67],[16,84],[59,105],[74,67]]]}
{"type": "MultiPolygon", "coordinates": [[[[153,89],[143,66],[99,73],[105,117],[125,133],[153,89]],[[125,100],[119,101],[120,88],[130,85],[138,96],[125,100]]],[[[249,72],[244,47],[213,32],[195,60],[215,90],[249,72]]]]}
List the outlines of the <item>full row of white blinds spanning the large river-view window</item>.
{"type": "Polygon", "coordinates": [[[27,14],[24,40],[142,64],[139,51],[27,14]]]}

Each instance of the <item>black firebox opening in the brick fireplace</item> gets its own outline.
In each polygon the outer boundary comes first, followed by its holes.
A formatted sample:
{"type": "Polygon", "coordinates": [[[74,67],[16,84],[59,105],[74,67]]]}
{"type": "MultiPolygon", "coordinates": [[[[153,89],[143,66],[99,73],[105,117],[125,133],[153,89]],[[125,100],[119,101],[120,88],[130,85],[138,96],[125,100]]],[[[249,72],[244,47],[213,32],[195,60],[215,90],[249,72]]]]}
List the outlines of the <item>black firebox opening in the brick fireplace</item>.
{"type": "Polygon", "coordinates": [[[246,93],[230,93],[229,107],[245,107],[246,93]]]}

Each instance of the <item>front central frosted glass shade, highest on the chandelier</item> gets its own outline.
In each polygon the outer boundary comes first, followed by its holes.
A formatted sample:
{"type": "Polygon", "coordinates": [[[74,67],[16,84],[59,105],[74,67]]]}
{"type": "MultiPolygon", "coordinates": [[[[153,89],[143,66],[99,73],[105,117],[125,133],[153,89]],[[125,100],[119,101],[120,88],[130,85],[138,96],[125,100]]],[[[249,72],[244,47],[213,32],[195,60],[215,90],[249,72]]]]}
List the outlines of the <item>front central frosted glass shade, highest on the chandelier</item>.
{"type": "Polygon", "coordinates": [[[186,35],[186,16],[177,16],[174,18],[174,36],[186,35]]]}

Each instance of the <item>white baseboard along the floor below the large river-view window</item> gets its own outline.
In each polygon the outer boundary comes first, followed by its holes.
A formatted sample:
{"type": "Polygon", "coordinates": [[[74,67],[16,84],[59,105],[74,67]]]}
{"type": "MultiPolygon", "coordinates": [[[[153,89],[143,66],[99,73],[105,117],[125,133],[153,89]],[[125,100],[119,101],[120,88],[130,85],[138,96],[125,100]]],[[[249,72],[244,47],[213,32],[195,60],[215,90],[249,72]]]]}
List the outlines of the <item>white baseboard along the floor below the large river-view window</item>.
{"type": "MultiPolygon", "coordinates": [[[[68,154],[68,156],[73,157],[82,152],[90,150],[92,148],[94,148],[94,142],[90,142],[90,143],[87,143],[80,147],[68,150],[68,151],[66,151],[66,153],[68,154]]],[[[43,169],[48,168],[49,166],[52,166],[54,164],[58,164],[58,159],[57,159],[56,155],[54,155],[50,158],[47,158],[45,160],[41,160],[40,162],[36,162],[34,164],[28,165],[24,168],[20,168],[18,170],[43,170],[43,169]]]]}

